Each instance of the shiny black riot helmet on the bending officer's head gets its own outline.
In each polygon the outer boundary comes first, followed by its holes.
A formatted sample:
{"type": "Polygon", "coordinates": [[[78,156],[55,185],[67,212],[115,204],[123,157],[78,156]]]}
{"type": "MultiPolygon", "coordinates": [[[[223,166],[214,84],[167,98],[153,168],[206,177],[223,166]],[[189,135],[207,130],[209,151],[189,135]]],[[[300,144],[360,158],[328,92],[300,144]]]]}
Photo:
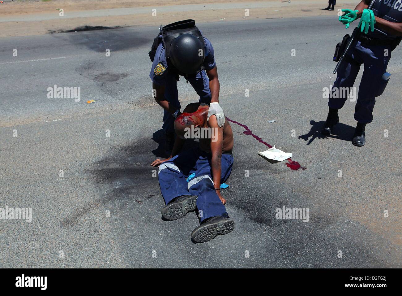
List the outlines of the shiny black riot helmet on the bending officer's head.
{"type": "Polygon", "coordinates": [[[178,36],[170,46],[170,62],[180,72],[194,74],[200,70],[205,57],[204,44],[194,35],[178,36]]]}

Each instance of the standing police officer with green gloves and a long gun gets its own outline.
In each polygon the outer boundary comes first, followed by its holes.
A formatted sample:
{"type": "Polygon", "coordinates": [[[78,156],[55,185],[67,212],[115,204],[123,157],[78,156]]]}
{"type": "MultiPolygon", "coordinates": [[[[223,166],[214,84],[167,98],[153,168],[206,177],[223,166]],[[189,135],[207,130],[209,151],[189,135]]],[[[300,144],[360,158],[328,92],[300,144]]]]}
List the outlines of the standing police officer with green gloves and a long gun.
{"type": "MultiPolygon", "coordinates": [[[[339,17],[346,27],[360,18],[356,41],[351,45],[345,60],[340,65],[332,90],[337,93],[341,87],[353,87],[361,64],[364,64],[363,76],[355,107],[357,126],[353,135],[353,145],[365,144],[365,126],[373,120],[375,97],[381,95],[388,83],[390,74],[386,72],[391,52],[398,46],[402,36],[402,0],[377,0],[372,9],[367,9],[371,0],[362,0],[355,10],[342,10],[339,17]],[[369,30],[370,29],[370,30],[369,30]],[[364,34],[363,34],[364,32],[364,34]]],[[[330,135],[339,122],[338,109],[345,104],[347,97],[335,97],[330,93],[329,112],[323,135],[330,135]]]]}

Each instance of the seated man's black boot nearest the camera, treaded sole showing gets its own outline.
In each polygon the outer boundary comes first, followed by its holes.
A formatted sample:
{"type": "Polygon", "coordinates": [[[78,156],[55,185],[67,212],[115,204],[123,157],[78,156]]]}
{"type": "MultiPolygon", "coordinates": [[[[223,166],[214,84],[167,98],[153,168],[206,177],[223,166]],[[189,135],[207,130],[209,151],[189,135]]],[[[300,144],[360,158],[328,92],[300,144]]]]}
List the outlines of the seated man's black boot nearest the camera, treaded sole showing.
{"type": "Polygon", "coordinates": [[[200,226],[191,232],[195,242],[207,242],[218,234],[227,234],[234,230],[234,221],[229,217],[215,216],[205,219],[200,226]]]}

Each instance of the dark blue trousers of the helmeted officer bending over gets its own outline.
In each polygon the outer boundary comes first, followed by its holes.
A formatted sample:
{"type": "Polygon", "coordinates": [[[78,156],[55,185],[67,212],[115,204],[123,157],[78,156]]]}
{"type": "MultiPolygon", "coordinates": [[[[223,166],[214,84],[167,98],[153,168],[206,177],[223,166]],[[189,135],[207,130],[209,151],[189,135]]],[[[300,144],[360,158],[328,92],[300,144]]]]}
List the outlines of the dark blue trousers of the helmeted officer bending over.
{"type": "MultiPolygon", "coordinates": [[[[180,77],[180,79],[186,79],[180,77]]],[[[209,90],[209,78],[205,70],[201,70],[196,75],[187,77],[187,81],[191,84],[194,90],[199,95],[199,102],[209,104],[211,103],[211,91],[209,90]]],[[[176,76],[169,74],[166,77],[165,85],[165,99],[180,110],[180,102],[178,100],[177,80],[176,76]]],[[[163,125],[162,129],[165,133],[174,132],[174,118],[172,114],[166,110],[163,110],[163,125]]]]}

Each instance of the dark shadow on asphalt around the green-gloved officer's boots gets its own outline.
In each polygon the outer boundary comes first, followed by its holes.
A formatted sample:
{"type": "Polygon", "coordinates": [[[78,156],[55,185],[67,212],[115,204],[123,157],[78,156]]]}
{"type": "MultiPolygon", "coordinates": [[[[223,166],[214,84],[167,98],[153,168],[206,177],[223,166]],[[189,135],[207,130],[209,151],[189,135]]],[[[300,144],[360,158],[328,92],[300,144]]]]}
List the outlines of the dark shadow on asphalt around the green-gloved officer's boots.
{"type": "Polygon", "coordinates": [[[324,126],[325,121],[315,122],[314,120],[310,120],[311,129],[306,135],[299,136],[299,139],[303,139],[304,141],[308,141],[307,145],[310,145],[314,139],[328,139],[334,138],[343,141],[351,142],[353,139],[353,134],[355,132],[355,128],[353,126],[338,122],[335,124],[332,134],[329,136],[324,136],[321,134],[321,129],[324,126]],[[311,139],[309,140],[309,138],[311,139]]]}

